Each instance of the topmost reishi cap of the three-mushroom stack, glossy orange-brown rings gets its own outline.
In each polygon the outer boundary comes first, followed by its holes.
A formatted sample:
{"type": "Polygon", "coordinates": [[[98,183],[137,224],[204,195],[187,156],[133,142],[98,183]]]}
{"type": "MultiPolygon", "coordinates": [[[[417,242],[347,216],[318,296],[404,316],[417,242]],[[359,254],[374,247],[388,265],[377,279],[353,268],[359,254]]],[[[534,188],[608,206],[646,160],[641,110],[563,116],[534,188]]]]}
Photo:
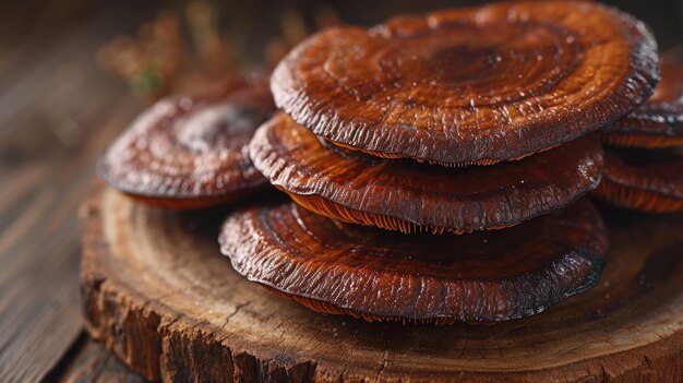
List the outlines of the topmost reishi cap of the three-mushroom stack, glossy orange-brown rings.
{"type": "Polygon", "coordinates": [[[612,123],[659,80],[650,31],[590,2],[511,2],[338,27],[275,69],[276,105],[333,142],[438,163],[523,157],[612,123]]]}

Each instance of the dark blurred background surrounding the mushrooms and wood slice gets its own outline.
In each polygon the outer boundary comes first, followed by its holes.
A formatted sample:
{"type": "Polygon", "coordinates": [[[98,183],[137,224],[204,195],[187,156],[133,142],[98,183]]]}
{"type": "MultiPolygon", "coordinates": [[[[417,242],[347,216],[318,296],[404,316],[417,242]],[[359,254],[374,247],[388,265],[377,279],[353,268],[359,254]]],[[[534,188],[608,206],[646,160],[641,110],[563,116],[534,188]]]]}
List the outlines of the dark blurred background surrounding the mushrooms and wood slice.
{"type": "MultiPolygon", "coordinates": [[[[0,382],[140,381],[83,333],[76,211],[146,104],[273,64],[325,25],[474,3],[1,0],[0,382]]],[[[683,58],[682,1],[610,3],[683,58]]]]}

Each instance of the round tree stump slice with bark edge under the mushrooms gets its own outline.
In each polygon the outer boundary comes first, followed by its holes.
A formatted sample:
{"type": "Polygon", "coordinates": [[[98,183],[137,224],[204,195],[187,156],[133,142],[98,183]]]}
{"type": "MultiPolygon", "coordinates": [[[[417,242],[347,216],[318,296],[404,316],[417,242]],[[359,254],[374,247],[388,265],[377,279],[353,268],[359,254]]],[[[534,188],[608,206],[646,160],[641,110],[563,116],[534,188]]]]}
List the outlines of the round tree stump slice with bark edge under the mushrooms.
{"type": "Polygon", "coordinates": [[[97,188],[84,213],[86,326],[149,380],[683,381],[683,215],[608,212],[599,285],[492,326],[322,315],[235,273],[227,210],[179,213],[97,188]]]}

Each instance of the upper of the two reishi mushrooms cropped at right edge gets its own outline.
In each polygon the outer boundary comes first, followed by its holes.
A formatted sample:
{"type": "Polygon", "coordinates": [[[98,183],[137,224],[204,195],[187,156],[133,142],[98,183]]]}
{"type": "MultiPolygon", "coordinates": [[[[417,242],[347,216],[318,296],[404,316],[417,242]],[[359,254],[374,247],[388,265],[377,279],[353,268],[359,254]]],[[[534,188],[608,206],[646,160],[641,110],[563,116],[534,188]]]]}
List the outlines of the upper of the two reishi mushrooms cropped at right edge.
{"type": "Polygon", "coordinates": [[[603,140],[615,146],[683,145],[683,64],[663,62],[661,82],[645,104],[606,128],[603,140]]]}

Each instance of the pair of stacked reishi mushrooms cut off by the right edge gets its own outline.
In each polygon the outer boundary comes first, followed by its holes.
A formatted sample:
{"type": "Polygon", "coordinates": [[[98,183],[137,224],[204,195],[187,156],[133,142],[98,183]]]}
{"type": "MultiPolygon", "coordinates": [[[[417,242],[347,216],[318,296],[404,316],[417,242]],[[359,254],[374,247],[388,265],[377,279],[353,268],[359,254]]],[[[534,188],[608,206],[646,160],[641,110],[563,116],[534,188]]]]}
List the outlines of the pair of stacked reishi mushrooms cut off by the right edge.
{"type": "Polygon", "coordinates": [[[602,140],[609,147],[598,196],[645,212],[683,212],[683,65],[664,61],[655,94],[602,140]]]}

